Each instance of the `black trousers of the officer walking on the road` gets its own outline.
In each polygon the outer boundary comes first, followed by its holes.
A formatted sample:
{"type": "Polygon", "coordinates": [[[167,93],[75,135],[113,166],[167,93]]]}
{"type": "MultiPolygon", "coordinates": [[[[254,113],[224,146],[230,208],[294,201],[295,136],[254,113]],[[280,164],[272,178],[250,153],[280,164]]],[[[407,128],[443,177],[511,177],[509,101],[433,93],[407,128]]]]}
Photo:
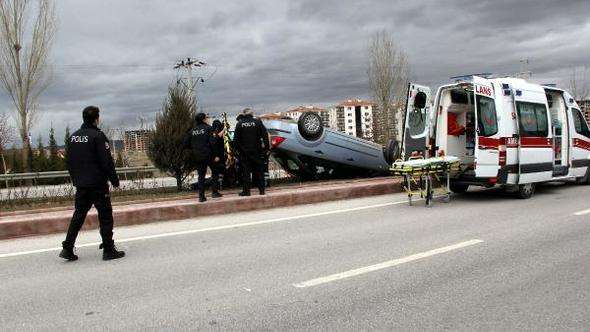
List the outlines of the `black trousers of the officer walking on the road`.
{"type": "Polygon", "coordinates": [[[113,207],[111,206],[111,195],[109,187],[98,188],[76,188],[76,200],[74,203],[75,211],[70,221],[68,234],[64,241],[64,246],[73,248],[76,243],[76,237],[84,225],[84,220],[90,208],[94,205],[98,211],[98,221],[100,225],[100,236],[104,247],[113,246],[113,207]]]}

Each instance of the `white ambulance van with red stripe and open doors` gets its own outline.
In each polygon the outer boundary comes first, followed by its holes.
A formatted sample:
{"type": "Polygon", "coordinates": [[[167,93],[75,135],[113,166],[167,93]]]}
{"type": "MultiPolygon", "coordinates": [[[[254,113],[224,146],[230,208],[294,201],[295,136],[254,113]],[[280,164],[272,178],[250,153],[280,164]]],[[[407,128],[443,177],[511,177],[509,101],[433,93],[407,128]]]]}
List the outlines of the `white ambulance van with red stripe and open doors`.
{"type": "Polygon", "coordinates": [[[441,86],[430,99],[430,88],[409,85],[402,157],[460,158],[453,192],[503,186],[529,198],[539,182],[590,182],[590,130],[567,91],[470,76],[441,86]]]}

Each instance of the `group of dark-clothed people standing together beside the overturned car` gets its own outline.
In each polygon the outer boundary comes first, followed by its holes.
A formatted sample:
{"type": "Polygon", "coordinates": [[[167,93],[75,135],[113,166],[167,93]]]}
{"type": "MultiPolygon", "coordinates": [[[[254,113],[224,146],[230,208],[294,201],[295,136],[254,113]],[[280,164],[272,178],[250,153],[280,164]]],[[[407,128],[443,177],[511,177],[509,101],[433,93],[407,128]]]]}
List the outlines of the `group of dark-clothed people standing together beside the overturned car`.
{"type": "MultiPolygon", "coordinates": [[[[225,126],[219,120],[209,124],[204,113],[195,117],[194,127],[187,133],[184,146],[190,149],[192,158],[197,163],[197,188],[199,202],[207,200],[205,196],[205,176],[207,168],[211,170],[211,197],[217,198],[222,178],[226,170],[225,126]]],[[[264,173],[268,167],[270,144],[266,128],[260,119],[254,117],[247,108],[238,115],[238,123],[234,131],[232,153],[239,160],[242,191],[240,196],[250,196],[252,185],[258,188],[260,195],[265,194],[266,181],[264,173]]]]}

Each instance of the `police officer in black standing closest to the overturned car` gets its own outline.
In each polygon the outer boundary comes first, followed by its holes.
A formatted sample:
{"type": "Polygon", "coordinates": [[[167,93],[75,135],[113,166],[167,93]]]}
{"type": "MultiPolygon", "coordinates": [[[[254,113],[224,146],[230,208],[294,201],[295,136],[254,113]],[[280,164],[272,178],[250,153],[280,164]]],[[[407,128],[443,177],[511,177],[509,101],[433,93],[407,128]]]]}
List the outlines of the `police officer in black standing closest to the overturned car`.
{"type": "Polygon", "coordinates": [[[250,196],[251,183],[264,195],[264,158],[270,145],[268,133],[260,119],[255,119],[251,109],[242,111],[242,118],[236,125],[234,140],[239,150],[243,180],[240,196],[250,196]]]}

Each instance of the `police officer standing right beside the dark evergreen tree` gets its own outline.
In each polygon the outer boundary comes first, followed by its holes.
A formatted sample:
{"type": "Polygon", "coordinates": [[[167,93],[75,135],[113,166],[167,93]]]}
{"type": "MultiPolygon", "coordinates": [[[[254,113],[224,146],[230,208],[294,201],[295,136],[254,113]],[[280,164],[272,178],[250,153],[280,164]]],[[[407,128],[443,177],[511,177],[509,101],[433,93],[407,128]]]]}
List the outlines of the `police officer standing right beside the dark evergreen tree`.
{"type": "MultiPolygon", "coordinates": [[[[207,123],[207,120],[205,113],[198,113],[195,117],[195,126],[189,130],[185,138],[185,147],[192,150],[194,161],[197,163],[199,202],[207,201],[205,197],[205,175],[207,175],[207,167],[211,166],[213,146],[215,144],[213,128],[207,123]]],[[[219,174],[217,172],[211,173],[212,197],[221,197],[217,188],[219,174]]]]}

